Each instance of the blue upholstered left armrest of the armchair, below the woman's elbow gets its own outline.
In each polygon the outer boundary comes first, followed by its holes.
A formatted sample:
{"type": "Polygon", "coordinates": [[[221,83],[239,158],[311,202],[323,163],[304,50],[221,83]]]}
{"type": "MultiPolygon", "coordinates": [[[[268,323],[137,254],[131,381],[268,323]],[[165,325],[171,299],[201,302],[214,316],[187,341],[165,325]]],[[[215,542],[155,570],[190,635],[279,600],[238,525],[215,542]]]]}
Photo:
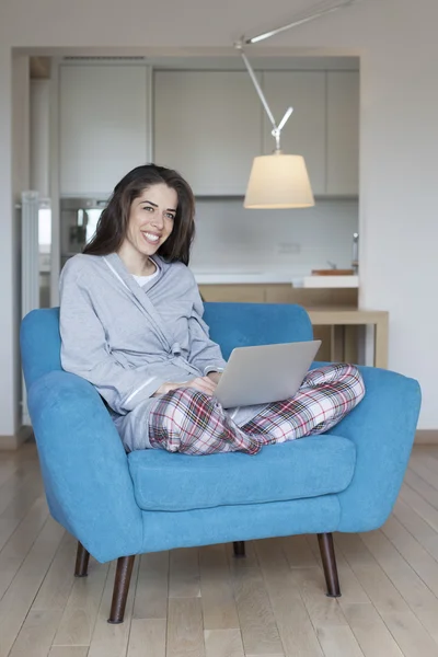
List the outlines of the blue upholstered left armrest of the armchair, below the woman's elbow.
{"type": "Polygon", "coordinates": [[[54,518],[100,562],[136,554],[141,510],[122,440],[95,389],[51,371],[30,387],[27,403],[54,518]]]}

